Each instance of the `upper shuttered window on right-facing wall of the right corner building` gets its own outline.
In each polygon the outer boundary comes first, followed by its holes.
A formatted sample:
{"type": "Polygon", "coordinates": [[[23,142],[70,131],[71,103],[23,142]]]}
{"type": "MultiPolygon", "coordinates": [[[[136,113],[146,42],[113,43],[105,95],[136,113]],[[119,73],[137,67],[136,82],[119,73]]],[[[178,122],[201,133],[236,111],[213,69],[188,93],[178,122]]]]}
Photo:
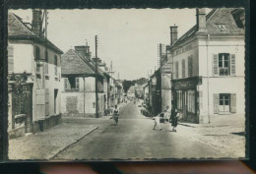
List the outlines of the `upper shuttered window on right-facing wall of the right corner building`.
{"type": "Polygon", "coordinates": [[[235,55],[229,53],[214,54],[213,74],[214,76],[234,76],[235,55]]]}

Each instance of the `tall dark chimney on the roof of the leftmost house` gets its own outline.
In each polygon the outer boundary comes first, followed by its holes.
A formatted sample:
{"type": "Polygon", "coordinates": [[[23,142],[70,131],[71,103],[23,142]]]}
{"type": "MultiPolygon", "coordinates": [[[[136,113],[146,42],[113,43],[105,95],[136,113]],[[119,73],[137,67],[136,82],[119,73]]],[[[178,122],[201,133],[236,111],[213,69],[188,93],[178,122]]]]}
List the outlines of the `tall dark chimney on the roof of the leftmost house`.
{"type": "Polygon", "coordinates": [[[32,10],[32,31],[37,34],[38,36],[41,36],[41,10],[39,9],[33,9],[32,10]]]}

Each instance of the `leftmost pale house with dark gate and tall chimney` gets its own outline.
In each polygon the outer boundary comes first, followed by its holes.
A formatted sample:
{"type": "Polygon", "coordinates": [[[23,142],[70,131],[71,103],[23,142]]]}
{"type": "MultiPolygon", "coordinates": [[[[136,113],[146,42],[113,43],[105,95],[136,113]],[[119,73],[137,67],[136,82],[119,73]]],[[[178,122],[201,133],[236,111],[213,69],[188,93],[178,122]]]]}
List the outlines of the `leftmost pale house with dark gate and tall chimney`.
{"type": "Polygon", "coordinates": [[[61,54],[45,38],[41,10],[32,10],[32,25],[8,13],[10,138],[44,131],[61,123],[61,54]]]}

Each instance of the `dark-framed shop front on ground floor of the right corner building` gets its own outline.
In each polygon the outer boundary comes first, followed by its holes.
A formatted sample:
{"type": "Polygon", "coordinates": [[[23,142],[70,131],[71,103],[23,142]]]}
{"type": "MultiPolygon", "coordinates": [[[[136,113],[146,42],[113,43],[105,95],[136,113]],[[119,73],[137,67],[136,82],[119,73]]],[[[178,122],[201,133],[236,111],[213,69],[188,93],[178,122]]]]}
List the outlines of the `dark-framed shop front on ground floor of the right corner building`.
{"type": "Polygon", "coordinates": [[[202,78],[193,77],[172,81],[173,106],[178,109],[181,121],[199,123],[199,96],[197,86],[202,78]]]}

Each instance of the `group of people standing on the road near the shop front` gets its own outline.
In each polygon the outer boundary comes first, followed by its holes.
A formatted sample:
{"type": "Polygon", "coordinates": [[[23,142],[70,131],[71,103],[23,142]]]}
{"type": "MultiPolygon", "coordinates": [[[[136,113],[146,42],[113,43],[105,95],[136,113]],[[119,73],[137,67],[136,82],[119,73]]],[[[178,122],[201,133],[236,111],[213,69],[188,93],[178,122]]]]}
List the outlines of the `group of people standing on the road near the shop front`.
{"type": "Polygon", "coordinates": [[[172,132],[177,132],[176,127],[178,124],[179,112],[176,108],[172,107],[170,110],[169,106],[166,106],[165,111],[160,113],[159,115],[157,115],[157,117],[155,118],[155,125],[154,125],[153,130],[155,130],[155,128],[158,126],[161,131],[160,117],[163,118],[163,122],[165,122],[165,120],[168,123],[171,122],[172,132]]]}

